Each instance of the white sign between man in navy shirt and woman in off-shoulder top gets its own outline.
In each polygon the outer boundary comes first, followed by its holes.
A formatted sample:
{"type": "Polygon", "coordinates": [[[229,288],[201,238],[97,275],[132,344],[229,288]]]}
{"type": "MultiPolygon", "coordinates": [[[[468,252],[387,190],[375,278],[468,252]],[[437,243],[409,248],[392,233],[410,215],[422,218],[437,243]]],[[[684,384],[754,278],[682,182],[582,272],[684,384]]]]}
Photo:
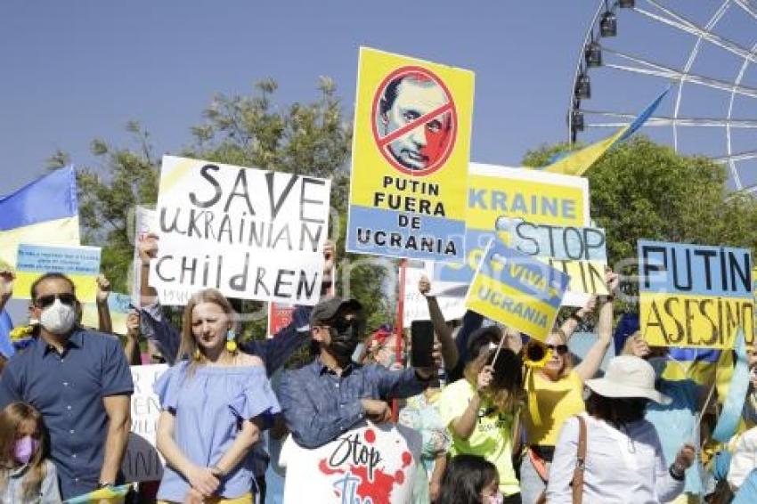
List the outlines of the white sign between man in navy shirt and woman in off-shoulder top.
{"type": "Polygon", "coordinates": [[[160,417],[160,401],[152,386],[168,369],[167,364],[132,366],[132,431],[121,470],[126,481],[158,481],[165,460],[155,448],[160,417]]]}

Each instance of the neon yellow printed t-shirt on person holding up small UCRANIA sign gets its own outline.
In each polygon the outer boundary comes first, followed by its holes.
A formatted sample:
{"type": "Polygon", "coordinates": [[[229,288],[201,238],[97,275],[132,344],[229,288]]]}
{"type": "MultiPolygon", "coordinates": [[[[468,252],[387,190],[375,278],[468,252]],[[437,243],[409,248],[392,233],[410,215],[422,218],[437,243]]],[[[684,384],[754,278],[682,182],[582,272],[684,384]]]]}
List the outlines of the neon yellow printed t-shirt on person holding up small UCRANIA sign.
{"type": "Polygon", "coordinates": [[[452,435],[450,452],[452,455],[468,453],[484,457],[497,467],[500,475],[500,492],[505,495],[520,492],[512,465],[513,416],[511,413],[493,411],[492,403],[484,400],[478,411],[476,427],[468,439],[458,437],[452,430],[452,420],[462,416],[475,392],[475,388],[467,379],[459,379],[445,386],[435,403],[439,416],[452,435]]]}

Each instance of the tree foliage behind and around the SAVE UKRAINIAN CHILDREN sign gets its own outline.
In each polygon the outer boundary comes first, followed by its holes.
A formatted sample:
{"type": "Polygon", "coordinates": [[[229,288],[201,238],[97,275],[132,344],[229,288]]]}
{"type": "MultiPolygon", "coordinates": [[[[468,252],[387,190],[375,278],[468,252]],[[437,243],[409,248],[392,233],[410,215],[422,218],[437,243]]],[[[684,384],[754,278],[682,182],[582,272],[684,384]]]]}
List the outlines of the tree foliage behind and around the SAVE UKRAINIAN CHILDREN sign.
{"type": "MultiPolygon", "coordinates": [[[[352,126],[345,118],[336,94],[336,86],[328,77],[321,77],[319,96],[309,103],[295,102],[277,106],[273,102],[277,84],[273,80],[258,82],[250,94],[216,95],[203,120],[191,126],[189,146],[178,155],[207,159],[241,167],[313,175],[330,178],[330,237],[337,240],[338,256],[349,264],[354,257],[345,256],[345,230],[348,160],[352,142],[352,126]],[[335,225],[340,223],[340,225],[335,225]]],[[[136,122],[126,130],[134,143],[116,148],[102,139],[95,139],[91,151],[101,162],[94,167],[77,167],[79,215],[86,244],[103,248],[102,271],[115,289],[127,291],[127,272],[134,250],[133,211],[137,205],[154,207],[158,196],[160,159],[154,154],[150,134],[136,122]]],[[[51,167],[69,162],[63,152],[51,157],[51,167]]],[[[386,270],[370,265],[346,266],[350,295],[360,299],[369,315],[369,327],[388,319],[394,306],[387,303],[380,289],[386,270]]],[[[344,278],[339,274],[340,278],[344,278]]],[[[245,303],[243,309],[253,311],[259,304],[245,303]]],[[[257,335],[265,331],[265,320],[253,323],[257,335]]]]}

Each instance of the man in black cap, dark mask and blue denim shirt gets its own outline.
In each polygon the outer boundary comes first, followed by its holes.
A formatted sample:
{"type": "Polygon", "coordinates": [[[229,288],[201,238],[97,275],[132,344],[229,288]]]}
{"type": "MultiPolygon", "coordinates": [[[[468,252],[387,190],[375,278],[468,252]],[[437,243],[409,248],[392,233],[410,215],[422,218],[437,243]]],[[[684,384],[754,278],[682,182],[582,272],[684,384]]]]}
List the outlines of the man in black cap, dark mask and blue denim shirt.
{"type": "MultiPolygon", "coordinates": [[[[391,411],[379,398],[420,394],[435,377],[433,368],[400,371],[353,362],[361,339],[361,309],[354,299],[331,298],[316,305],[310,328],[318,356],[281,379],[281,412],[300,446],[322,446],[364,419],[388,421],[391,411]]],[[[441,354],[435,353],[434,359],[437,366],[441,364],[441,354]]]]}

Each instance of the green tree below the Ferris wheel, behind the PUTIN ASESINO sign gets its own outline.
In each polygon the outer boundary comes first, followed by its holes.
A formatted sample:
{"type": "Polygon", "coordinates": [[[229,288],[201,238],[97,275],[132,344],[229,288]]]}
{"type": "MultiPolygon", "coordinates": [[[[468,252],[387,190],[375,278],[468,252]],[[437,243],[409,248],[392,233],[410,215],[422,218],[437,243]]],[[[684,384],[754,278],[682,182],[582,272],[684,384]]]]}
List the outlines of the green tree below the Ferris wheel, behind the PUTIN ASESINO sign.
{"type": "MultiPolygon", "coordinates": [[[[567,148],[543,145],[526,153],[523,164],[545,166],[567,148]]],[[[757,250],[757,200],[729,191],[726,168],[710,159],[635,136],[584,175],[591,217],[606,230],[609,264],[636,257],[642,239],[757,250]]]]}

